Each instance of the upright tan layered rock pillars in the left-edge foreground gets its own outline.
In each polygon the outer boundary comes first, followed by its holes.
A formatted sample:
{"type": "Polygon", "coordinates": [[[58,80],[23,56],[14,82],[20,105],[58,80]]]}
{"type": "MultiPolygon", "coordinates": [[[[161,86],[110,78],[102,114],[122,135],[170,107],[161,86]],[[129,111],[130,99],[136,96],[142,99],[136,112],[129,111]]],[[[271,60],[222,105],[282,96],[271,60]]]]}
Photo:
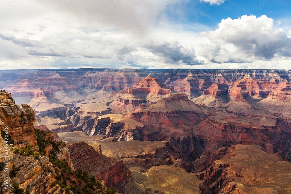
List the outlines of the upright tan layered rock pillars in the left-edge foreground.
{"type": "Polygon", "coordinates": [[[17,104],[13,104],[11,94],[1,92],[5,97],[0,104],[0,120],[1,130],[8,126],[11,139],[14,140],[15,145],[19,148],[24,148],[30,144],[33,150],[38,150],[36,135],[34,134],[33,122],[35,121],[35,113],[33,109],[27,105],[22,104],[23,111],[17,104]]]}

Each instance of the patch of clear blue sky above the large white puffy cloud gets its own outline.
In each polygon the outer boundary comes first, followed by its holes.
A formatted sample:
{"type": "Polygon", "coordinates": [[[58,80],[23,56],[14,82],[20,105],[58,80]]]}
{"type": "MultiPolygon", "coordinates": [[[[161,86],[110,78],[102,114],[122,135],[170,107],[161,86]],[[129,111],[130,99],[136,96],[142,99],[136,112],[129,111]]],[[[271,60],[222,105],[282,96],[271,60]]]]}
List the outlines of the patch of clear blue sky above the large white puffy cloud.
{"type": "Polygon", "coordinates": [[[268,17],[272,17],[275,21],[281,19],[283,24],[290,24],[291,3],[286,0],[227,0],[220,5],[213,4],[211,7],[208,2],[188,1],[182,3],[180,6],[184,10],[182,16],[173,12],[175,8],[179,7],[177,3],[172,5],[172,8],[168,10],[168,17],[175,20],[175,22],[198,22],[212,29],[215,29],[222,19],[227,19],[228,17],[235,19],[242,15],[267,15],[268,17]],[[210,10],[208,10],[209,7],[210,10]],[[205,10],[207,10],[205,16],[200,19],[201,12],[205,10]],[[197,16],[199,21],[197,21],[197,16]],[[285,19],[287,21],[284,21],[285,19]]]}

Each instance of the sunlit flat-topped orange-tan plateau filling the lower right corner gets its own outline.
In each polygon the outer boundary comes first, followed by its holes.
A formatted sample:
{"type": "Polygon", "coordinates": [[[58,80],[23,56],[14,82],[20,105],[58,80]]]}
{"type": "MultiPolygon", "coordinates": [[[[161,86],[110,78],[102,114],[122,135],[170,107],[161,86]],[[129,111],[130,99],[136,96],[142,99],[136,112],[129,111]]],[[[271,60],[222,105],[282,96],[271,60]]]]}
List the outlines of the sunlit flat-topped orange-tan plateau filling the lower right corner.
{"type": "Polygon", "coordinates": [[[219,160],[197,175],[215,193],[285,193],[290,189],[290,185],[286,188],[291,181],[290,162],[263,152],[258,145],[234,145],[213,155],[221,152],[219,160]]]}

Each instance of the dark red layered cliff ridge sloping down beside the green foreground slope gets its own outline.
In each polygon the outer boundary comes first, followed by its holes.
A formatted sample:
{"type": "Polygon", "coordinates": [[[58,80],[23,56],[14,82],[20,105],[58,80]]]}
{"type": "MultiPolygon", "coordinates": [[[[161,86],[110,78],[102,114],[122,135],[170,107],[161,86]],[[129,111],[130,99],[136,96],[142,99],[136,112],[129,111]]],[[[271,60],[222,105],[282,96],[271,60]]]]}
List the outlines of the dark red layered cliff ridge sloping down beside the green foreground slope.
{"type": "Polygon", "coordinates": [[[67,148],[75,170],[80,168],[102,179],[105,186],[114,186],[117,190],[120,185],[132,183],[131,172],[121,159],[104,156],[84,142],[69,143],[67,148]]]}

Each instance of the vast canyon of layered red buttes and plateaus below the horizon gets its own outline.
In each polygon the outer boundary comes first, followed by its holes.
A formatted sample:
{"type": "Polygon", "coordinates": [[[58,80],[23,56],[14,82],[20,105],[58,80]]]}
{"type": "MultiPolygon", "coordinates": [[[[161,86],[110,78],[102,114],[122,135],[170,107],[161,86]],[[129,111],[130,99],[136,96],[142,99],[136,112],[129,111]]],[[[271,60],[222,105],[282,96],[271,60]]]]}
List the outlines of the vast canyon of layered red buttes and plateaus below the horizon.
{"type": "Polygon", "coordinates": [[[0,86],[15,147],[37,151],[33,128],[53,132],[61,158],[120,193],[290,190],[274,170],[289,168],[289,70],[3,70],[0,86]]]}

